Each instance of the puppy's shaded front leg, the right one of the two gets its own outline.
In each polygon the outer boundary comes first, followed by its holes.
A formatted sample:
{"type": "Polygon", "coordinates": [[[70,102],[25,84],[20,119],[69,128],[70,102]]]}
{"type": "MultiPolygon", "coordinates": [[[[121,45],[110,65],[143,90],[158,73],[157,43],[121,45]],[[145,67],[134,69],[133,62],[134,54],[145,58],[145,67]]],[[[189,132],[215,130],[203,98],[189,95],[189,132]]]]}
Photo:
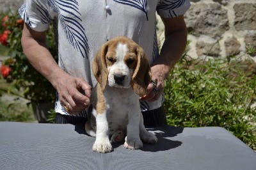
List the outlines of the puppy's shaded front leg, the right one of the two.
{"type": "Polygon", "coordinates": [[[140,139],[140,106],[134,106],[128,115],[129,123],[127,125],[127,137],[124,147],[130,150],[136,150],[143,146],[140,139]]]}

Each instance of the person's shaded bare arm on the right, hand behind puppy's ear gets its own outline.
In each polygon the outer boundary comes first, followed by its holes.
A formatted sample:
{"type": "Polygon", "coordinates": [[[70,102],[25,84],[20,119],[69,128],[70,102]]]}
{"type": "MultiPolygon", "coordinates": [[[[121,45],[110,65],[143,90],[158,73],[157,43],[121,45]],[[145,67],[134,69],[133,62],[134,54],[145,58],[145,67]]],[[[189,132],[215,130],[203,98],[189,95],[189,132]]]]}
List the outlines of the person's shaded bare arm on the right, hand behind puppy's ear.
{"type": "Polygon", "coordinates": [[[157,81],[157,95],[152,91],[153,85],[148,85],[148,94],[141,100],[152,102],[161,97],[164,91],[164,80],[175,63],[179,61],[187,43],[187,27],[183,15],[175,18],[162,18],[165,40],[159,58],[151,66],[152,80],[157,81]]]}

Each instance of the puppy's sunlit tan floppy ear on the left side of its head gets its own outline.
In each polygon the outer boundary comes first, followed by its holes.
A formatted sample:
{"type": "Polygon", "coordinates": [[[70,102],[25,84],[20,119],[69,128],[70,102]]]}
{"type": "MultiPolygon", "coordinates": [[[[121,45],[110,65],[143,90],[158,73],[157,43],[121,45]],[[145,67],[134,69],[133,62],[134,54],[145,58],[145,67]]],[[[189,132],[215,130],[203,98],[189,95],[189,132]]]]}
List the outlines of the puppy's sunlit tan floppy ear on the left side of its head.
{"type": "Polygon", "coordinates": [[[92,72],[99,82],[101,90],[104,91],[108,82],[108,68],[106,65],[106,54],[108,52],[108,43],[104,43],[97,51],[92,63],[92,72]]]}

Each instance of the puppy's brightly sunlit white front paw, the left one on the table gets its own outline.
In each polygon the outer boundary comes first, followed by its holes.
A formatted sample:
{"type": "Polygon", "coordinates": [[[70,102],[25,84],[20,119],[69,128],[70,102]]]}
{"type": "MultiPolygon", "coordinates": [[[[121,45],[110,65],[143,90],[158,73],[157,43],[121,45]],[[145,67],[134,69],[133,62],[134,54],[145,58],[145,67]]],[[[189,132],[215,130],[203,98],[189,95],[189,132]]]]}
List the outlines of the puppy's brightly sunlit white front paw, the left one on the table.
{"type": "Polygon", "coordinates": [[[92,150],[100,153],[108,153],[113,151],[113,148],[109,140],[96,140],[92,150]]]}

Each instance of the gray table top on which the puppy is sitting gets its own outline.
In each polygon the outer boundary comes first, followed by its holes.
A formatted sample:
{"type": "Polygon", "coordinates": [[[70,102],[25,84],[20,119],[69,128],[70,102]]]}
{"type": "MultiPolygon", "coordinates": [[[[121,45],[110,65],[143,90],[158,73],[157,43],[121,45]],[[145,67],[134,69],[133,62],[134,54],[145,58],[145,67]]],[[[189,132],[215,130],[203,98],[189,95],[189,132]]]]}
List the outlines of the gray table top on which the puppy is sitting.
{"type": "Polygon", "coordinates": [[[157,144],[103,154],[81,125],[0,122],[0,169],[256,169],[256,153],[224,128],[148,130],[157,144]]]}

